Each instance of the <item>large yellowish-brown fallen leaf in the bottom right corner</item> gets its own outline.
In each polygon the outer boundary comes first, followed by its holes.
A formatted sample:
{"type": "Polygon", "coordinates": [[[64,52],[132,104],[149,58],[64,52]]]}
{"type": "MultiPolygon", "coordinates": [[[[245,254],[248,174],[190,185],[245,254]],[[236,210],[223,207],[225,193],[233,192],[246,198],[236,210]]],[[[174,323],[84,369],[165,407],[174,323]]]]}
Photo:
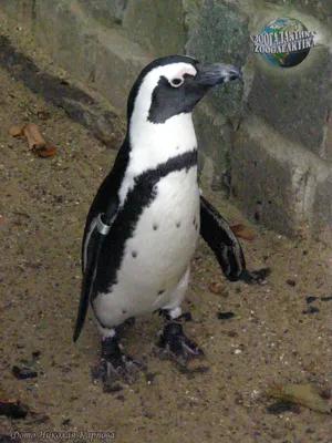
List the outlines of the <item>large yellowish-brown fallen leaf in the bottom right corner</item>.
{"type": "Polygon", "coordinates": [[[323,414],[331,414],[331,405],[311,384],[274,384],[267,394],[272,399],[300,404],[323,414]]]}

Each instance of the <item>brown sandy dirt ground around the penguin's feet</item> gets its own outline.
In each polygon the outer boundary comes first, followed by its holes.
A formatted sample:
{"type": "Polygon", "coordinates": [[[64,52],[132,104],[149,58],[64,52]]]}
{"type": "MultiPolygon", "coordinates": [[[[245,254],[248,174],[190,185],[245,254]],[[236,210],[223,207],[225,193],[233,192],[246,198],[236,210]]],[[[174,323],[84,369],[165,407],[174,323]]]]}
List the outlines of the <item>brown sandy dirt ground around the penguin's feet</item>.
{"type": "MultiPolygon", "coordinates": [[[[128,329],[124,344],[146,357],[151,377],[103,393],[91,378],[100,356],[91,317],[76,344],[72,333],[85,215],[115,152],[4,71],[0,83],[0,398],[20,399],[38,413],[0,416],[0,433],[59,431],[69,440],[76,432],[76,442],[105,431],[118,442],[331,443],[331,415],[277,408],[267,395],[276,383],[311,383],[325,396],[332,391],[332,299],[321,299],[332,292],[331,249],[252,226],[208,189],[205,196],[230,223],[255,234],[241,241],[248,268],[269,266],[272,274],[263,286],[228,282],[200,241],[185,306],[194,321],[185,328],[205,349],[209,370],[189,377],[153,357],[160,319],[149,316],[128,329]],[[54,157],[38,158],[24,138],[8,134],[27,122],[38,123],[58,147],[54,157]],[[210,292],[210,282],[221,282],[221,293],[210,292]],[[317,299],[309,305],[307,297],[317,299]],[[220,320],[219,311],[235,317],[220,320]],[[24,360],[37,378],[13,377],[12,367],[24,360]]],[[[100,436],[94,441],[111,440],[100,436]]],[[[56,440],[44,434],[33,441],[56,440]]]]}

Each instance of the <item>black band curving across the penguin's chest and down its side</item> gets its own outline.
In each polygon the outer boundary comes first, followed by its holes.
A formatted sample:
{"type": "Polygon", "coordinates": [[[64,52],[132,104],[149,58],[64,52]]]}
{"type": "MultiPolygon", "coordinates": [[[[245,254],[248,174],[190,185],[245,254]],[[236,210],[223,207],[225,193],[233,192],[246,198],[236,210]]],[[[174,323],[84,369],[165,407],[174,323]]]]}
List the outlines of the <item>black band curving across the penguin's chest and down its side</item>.
{"type": "Polygon", "coordinates": [[[173,172],[183,169],[188,172],[196,165],[197,150],[194,150],[169,158],[155,169],[148,169],[135,178],[134,187],[128,190],[124,205],[104,240],[94,280],[94,297],[101,292],[108,292],[110,288],[112,291],[112,286],[117,284],[117,271],[124,258],[126,241],[133,237],[143,210],[156,198],[156,185],[159,179],[173,172]]]}

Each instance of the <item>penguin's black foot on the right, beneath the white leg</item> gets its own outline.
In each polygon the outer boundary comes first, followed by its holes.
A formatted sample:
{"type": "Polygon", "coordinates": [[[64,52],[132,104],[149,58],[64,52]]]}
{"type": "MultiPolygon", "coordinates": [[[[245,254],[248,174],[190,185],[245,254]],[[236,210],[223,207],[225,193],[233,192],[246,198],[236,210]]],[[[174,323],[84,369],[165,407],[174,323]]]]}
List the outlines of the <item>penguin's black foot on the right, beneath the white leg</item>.
{"type": "Polygon", "coordinates": [[[203,349],[185,336],[181,323],[176,320],[165,323],[154,353],[162,359],[173,360],[188,371],[193,359],[204,357],[203,349]]]}

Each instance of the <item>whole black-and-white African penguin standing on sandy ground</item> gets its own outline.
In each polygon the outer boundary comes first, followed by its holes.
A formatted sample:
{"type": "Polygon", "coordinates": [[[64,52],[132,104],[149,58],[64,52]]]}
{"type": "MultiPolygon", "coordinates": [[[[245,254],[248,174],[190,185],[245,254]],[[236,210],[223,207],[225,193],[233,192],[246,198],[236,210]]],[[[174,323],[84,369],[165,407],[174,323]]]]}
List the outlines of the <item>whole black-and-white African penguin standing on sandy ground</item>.
{"type": "MultiPolygon", "coordinates": [[[[226,222],[199,195],[191,121],[195,105],[212,86],[239,76],[230,64],[172,55],[148,64],[129,93],[124,143],[87,214],[74,331],[76,341],[91,303],[102,336],[105,382],[125,379],[139,367],[120,348],[116,327],[143,313],[164,313],[158,344],[165,354],[184,361],[203,354],[178,320],[199,233],[224,265],[228,253],[218,257],[209,230],[215,224],[217,233],[230,236],[234,243],[219,249],[235,256],[235,279],[245,270],[226,222]]],[[[231,275],[231,269],[224,271],[231,275]]]]}

